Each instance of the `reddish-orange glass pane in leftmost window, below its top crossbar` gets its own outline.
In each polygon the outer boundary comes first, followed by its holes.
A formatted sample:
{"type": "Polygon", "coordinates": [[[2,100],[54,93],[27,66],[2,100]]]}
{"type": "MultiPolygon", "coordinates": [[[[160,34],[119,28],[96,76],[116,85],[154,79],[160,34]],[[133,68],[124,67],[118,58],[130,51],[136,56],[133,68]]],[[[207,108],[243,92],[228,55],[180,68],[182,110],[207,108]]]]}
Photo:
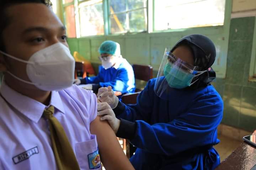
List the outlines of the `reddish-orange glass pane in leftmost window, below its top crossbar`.
{"type": "Polygon", "coordinates": [[[69,38],[76,37],[74,5],[65,7],[65,23],[69,38]]]}

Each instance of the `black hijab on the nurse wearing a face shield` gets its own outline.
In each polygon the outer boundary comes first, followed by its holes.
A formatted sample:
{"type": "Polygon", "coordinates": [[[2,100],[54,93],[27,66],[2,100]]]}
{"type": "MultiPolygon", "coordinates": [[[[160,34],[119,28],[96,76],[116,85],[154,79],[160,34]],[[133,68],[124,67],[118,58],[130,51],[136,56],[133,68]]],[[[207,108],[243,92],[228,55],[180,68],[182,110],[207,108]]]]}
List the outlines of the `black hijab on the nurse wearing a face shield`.
{"type": "Polygon", "coordinates": [[[210,82],[216,78],[216,73],[211,68],[216,57],[216,49],[212,40],[201,34],[187,35],[176,43],[171,49],[171,52],[181,45],[190,47],[193,54],[194,66],[199,67],[199,70],[197,71],[207,70],[207,72],[194,78],[198,78],[199,80],[183,90],[196,90],[210,85],[210,82]]]}

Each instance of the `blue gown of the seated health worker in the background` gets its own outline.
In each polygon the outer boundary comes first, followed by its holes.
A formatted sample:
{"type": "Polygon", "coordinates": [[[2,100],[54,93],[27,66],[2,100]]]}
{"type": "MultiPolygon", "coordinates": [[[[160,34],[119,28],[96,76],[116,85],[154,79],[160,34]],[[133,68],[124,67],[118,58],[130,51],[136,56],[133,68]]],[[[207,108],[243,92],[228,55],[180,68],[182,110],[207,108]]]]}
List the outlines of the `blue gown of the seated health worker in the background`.
{"type": "MultiPolygon", "coordinates": [[[[82,84],[99,84],[101,87],[111,86],[114,91],[121,91],[122,94],[135,91],[135,78],[132,66],[126,59],[118,68],[111,67],[104,69],[99,66],[99,73],[94,77],[86,77],[85,83],[82,84]]],[[[83,80],[82,80],[83,81],[83,80]]]]}

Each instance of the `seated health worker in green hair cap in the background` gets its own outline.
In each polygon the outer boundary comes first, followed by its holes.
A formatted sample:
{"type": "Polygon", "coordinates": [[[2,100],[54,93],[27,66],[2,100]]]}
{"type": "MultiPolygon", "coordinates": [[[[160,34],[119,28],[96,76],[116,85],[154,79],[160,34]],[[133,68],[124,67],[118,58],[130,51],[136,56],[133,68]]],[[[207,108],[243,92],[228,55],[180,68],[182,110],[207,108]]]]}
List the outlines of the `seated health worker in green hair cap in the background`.
{"type": "Polygon", "coordinates": [[[122,94],[135,91],[135,78],[132,66],[121,55],[120,45],[114,41],[104,41],[98,50],[102,66],[94,77],[75,79],[74,84],[86,84],[84,89],[98,91],[100,87],[111,86],[122,94]]]}

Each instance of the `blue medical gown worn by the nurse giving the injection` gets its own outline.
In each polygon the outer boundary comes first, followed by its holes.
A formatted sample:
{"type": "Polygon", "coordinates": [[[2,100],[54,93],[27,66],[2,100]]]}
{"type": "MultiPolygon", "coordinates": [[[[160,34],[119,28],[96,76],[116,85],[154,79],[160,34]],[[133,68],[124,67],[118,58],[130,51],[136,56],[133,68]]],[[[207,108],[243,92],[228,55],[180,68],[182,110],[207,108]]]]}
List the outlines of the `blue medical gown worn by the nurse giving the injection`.
{"type": "Polygon", "coordinates": [[[220,163],[217,151],[208,147],[197,153],[197,148],[219,143],[223,101],[218,92],[212,85],[194,91],[171,89],[169,100],[163,100],[154,92],[155,81],[148,82],[137,104],[120,102],[124,109],[115,111],[118,118],[136,121],[131,143],[137,150],[130,159],[134,168],[214,169],[220,163]]]}

